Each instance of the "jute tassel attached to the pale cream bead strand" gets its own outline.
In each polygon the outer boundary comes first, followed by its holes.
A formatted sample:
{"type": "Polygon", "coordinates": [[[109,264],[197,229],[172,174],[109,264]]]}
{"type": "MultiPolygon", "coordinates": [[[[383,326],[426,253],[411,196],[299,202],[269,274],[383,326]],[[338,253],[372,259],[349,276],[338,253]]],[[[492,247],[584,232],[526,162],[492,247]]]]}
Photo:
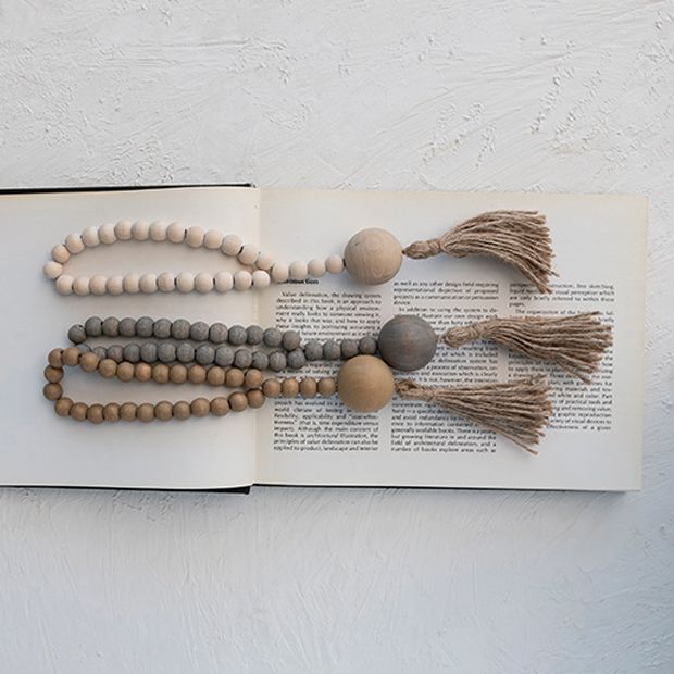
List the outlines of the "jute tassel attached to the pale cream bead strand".
{"type": "Polygon", "coordinates": [[[423,260],[446,252],[454,258],[491,255],[516,266],[540,292],[550,292],[552,245],[546,216],[536,211],[490,211],[452,227],[439,239],[414,241],[403,251],[423,260]]]}

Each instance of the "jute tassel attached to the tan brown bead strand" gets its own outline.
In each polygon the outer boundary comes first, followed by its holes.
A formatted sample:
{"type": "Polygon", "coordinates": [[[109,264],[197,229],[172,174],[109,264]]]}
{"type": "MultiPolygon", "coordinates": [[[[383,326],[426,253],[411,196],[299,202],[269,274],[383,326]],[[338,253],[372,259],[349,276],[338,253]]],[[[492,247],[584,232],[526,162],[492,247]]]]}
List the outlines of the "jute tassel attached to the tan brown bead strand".
{"type": "Polygon", "coordinates": [[[422,386],[411,379],[396,383],[396,392],[408,400],[433,402],[454,414],[512,440],[532,454],[538,451],[542,428],[552,414],[544,376],[482,386],[422,386]]]}

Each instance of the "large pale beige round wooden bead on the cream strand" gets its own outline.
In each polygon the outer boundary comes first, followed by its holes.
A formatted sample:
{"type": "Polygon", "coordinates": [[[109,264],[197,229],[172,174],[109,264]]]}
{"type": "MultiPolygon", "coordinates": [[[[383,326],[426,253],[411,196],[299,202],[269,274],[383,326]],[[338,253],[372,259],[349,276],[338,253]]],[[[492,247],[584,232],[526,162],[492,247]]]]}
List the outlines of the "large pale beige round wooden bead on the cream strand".
{"type": "Polygon", "coordinates": [[[347,272],[359,283],[378,286],[390,280],[402,264],[402,246],[386,229],[363,229],[344,250],[347,272]]]}

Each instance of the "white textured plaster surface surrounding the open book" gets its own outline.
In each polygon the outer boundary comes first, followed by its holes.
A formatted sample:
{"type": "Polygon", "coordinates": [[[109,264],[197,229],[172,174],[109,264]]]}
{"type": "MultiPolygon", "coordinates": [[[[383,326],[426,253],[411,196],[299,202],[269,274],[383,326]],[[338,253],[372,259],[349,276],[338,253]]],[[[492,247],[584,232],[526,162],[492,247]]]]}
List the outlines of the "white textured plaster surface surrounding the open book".
{"type": "Polygon", "coordinates": [[[642,492],[3,489],[0,670],[674,671],[673,93],[671,0],[0,0],[5,187],[651,197],[642,492]]]}

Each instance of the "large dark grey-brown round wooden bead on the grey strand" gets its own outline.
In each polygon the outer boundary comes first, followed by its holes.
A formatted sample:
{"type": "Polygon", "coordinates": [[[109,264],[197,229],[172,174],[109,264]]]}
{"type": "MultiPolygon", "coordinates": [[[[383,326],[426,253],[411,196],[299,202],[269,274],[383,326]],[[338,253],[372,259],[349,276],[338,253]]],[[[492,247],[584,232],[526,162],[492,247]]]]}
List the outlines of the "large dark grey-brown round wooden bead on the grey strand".
{"type": "Polygon", "coordinates": [[[437,336],[419,316],[396,316],[379,333],[382,358],[395,370],[412,372],[427,365],[435,355],[437,336]]]}

